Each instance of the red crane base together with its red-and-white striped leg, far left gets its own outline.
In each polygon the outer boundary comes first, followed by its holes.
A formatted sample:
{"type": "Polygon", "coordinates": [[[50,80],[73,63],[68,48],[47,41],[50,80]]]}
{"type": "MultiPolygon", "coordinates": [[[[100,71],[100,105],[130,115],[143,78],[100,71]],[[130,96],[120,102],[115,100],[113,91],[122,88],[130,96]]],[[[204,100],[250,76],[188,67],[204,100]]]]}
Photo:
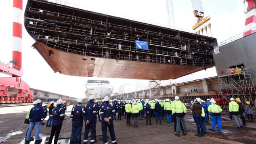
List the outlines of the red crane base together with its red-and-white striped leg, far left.
{"type": "Polygon", "coordinates": [[[10,77],[0,78],[0,103],[33,102],[33,93],[21,77],[23,0],[13,0],[13,60],[12,67],[0,63],[0,72],[10,77]]]}

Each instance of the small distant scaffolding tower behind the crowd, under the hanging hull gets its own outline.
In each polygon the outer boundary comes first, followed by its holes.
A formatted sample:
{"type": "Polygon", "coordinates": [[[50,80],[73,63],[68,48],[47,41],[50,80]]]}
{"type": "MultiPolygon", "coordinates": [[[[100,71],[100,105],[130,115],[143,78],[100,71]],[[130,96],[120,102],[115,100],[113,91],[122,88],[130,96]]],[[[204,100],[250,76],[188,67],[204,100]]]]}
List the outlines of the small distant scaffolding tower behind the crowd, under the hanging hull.
{"type": "Polygon", "coordinates": [[[149,80],[149,96],[150,98],[160,98],[163,96],[163,91],[161,87],[161,81],[159,80],[149,80]]]}

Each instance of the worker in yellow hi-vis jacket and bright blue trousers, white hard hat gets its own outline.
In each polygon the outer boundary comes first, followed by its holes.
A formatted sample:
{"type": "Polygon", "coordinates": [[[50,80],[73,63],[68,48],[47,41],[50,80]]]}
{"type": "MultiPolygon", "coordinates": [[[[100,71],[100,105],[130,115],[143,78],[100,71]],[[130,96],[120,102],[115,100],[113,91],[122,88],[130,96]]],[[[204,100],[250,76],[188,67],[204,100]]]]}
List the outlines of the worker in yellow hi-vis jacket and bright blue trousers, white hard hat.
{"type": "Polygon", "coordinates": [[[212,127],[210,130],[214,131],[216,123],[218,123],[218,131],[221,132],[222,129],[222,118],[220,112],[222,112],[222,109],[220,106],[216,104],[215,100],[211,100],[212,104],[208,107],[209,113],[212,114],[212,127]]]}

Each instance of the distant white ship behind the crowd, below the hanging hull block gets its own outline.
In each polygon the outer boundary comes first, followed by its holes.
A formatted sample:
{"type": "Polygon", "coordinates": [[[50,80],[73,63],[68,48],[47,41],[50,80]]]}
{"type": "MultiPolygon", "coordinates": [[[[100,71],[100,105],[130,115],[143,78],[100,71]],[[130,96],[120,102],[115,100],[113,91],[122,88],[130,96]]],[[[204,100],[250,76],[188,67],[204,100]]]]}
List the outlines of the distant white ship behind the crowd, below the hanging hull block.
{"type": "Polygon", "coordinates": [[[104,80],[87,80],[85,96],[88,94],[93,95],[99,100],[105,96],[110,96],[113,92],[113,86],[109,81],[104,80]]]}

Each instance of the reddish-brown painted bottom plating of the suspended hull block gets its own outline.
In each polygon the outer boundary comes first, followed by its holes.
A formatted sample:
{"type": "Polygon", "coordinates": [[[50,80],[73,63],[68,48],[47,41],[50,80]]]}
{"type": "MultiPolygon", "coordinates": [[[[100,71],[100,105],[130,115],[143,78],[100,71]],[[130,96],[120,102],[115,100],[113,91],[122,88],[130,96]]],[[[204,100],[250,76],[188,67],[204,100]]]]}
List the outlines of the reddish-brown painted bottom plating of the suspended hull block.
{"type": "Polygon", "coordinates": [[[72,76],[167,80],[205,68],[83,56],[56,50],[40,42],[36,42],[33,46],[55,73],[61,72],[61,74],[72,76]],[[52,51],[50,56],[48,51],[52,51]]]}

